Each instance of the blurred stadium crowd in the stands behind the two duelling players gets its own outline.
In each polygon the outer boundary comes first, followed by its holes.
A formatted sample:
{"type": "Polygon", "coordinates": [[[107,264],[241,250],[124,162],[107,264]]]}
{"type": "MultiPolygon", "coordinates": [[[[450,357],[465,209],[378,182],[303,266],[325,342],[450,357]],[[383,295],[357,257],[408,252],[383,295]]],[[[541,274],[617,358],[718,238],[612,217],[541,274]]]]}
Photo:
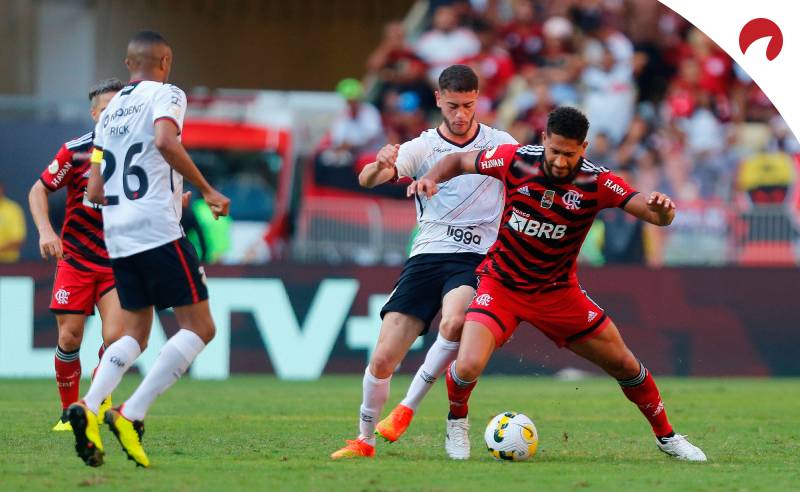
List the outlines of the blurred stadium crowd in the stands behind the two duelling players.
{"type": "MultiPolygon", "coordinates": [[[[336,161],[354,166],[348,176],[381,144],[429,127],[437,114],[436,78],[462,63],[480,77],[482,122],[520,143],[538,143],[550,110],[580,107],[591,121],[587,157],[637,188],[674,196],[706,234],[722,209],[797,208],[792,185],[800,144],[784,120],[724,51],[658,2],[441,0],[430,2],[426,25],[415,37],[400,22],[388,24],[367,59],[366,90],[354,80],[340,84],[352,104],[331,133],[347,127],[371,136],[347,146],[352,159],[336,161]]],[[[632,239],[601,241],[594,262],[662,260],[657,238],[648,241],[646,231],[617,222],[612,214],[604,225],[632,239]],[[609,248],[617,251],[599,251],[609,248]]],[[[591,251],[587,259],[593,261],[591,251]]]]}

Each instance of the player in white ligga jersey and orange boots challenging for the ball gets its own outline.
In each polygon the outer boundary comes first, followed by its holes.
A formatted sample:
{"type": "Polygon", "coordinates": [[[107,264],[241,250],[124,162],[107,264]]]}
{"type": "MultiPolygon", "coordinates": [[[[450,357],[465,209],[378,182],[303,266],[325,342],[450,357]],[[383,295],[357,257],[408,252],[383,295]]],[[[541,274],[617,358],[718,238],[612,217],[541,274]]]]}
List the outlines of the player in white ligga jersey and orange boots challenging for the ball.
{"type": "MultiPolygon", "coordinates": [[[[361,185],[371,188],[401,176],[417,179],[447,154],[515,143],[509,134],[475,121],[477,100],[478,77],[472,69],[445,69],[436,92],[442,123],[403,145],[381,149],[377,161],[359,175],[361,185]]],[[[420,402],[458,353],[465,312],[477,286],[475,268],[497,237],[504,199],[503,185],[496,179],[461,176],[431,199],[416,195],[414,200],[419,233],[381,310],[378,343],[364,372],[360,433],[334,452],[333,459],[372,457],[375,434],[394,442],[406,431],[420,402]],[[376,426],[389,398],[392,373],[440,309],[439,335],[406,397],[376,426]]],[[[469,457],[468,431],[466,418],[447,419],[445,449],[451,458],[469,457]]]]}

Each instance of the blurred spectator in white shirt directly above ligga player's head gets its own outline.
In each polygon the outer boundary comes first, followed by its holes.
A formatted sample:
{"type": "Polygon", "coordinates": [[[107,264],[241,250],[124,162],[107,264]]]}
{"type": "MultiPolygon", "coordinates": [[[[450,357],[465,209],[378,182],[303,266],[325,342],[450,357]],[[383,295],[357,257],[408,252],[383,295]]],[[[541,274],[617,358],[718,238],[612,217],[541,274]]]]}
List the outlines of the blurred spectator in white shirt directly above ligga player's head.
{"type": "Polygon", "coordinates": [[[417,40],[417,55],[430,66],[428,79],[435,83],[442,70],[480,51],[475,33],[459,27],[457,11],[449,5],[433,12],[433,26],[417,40]]]}

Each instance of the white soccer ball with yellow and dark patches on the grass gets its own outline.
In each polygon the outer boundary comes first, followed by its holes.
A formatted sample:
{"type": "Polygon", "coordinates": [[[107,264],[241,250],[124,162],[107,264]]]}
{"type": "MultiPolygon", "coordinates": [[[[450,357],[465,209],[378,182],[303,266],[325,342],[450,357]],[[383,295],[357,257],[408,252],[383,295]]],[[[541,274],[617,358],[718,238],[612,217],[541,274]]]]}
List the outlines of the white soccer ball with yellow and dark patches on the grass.
{"type": "Polygon", "coordinates": [[[516,412],[503,412],[493,418],[483,437],[496,460],[525,461],[536,454],[539,447],[539,434],[533,421],[516,412]]]}

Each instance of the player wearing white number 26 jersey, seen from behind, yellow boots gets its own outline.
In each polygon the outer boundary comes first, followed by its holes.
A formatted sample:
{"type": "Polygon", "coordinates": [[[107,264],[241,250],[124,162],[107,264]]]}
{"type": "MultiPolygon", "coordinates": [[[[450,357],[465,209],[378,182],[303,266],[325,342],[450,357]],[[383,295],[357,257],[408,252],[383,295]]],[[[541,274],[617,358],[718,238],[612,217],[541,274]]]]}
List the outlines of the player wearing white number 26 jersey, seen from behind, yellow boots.
{"type": "Polygon", "coordinates": [[[186,95],[167,84],[172,49],[158,33],[128,43],[128,83],[109,102],[95,128],[88,198],[103,204],[103,227],[122,305],[122,336],[109,345],[82,400],[67,411],[75,449],[90,466],[103,464],[97,410],[147,346],[153,307],[175,309],[180,330],[144,380],[104,420],[128,458],[147,467],[144,417],[214,338],[205,275],[180,226],[183,179],[202,193],[214,216],[230,200],[203,178],[180,142],[186,95]],[[101,175],[101,164],[103,166],[101,175]],[[103,181],[105,184],[103,184],[103,181]]]}

